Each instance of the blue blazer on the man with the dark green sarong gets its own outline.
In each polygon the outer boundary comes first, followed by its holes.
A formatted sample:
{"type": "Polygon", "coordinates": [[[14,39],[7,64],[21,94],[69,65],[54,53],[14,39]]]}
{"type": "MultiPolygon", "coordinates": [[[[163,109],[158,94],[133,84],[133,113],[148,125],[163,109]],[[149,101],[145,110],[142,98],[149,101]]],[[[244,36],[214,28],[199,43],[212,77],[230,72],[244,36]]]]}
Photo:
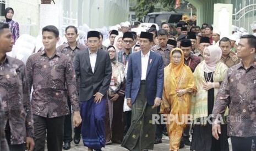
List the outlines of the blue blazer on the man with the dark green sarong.
{"type": "MultiPolygon", "coordinates": [[[[129,57],[126,98],[132,98],[134,103],[140,88],[141,79],[141,52],[133,53],[129,57]]],[[[150,106],[154,105],[155,98],[162,98],[164,86],[164,61],[162,56],[150,51],[148,68],[146,70],[146,100],[150,106]]]]}

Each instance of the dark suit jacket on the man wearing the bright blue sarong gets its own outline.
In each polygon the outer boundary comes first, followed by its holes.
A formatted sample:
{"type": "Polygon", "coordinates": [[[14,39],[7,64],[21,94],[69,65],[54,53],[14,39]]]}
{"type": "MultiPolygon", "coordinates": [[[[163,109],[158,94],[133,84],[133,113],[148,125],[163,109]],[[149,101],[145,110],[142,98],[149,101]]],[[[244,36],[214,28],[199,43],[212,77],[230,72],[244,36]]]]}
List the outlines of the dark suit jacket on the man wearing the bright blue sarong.
{"type": "Polygon", "coordinates": [[[100,92],[106,97],[112,75],[110,55],[107,51],[101,49],[97,50],[94,73],[91,69],[88,49],[77,53],[74,68],[76,78],[78,79],[80,77],[80,101],[90,100],[96,92],[100,92]]]}

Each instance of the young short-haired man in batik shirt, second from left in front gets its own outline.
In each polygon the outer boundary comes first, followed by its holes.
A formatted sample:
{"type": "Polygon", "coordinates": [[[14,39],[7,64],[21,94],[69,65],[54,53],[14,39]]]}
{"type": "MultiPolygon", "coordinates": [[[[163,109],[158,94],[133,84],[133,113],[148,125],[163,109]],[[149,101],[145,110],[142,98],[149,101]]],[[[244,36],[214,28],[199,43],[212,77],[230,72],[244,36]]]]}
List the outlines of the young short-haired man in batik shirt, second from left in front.
{"type": "Polygon", "coordinates": [[[35,151],[45,150],[45,136],[48,150],[62,150],[64,119],[70,113],[67,97],[74,111],[74,126],[81,123],[73,62],[56,50],[58,40],[57,27],[43,27],[42,43],[45,49],[31,55],[26,62],[29,89],[32,86],[34,89],[31,102],[35,121],[35,151]]]}

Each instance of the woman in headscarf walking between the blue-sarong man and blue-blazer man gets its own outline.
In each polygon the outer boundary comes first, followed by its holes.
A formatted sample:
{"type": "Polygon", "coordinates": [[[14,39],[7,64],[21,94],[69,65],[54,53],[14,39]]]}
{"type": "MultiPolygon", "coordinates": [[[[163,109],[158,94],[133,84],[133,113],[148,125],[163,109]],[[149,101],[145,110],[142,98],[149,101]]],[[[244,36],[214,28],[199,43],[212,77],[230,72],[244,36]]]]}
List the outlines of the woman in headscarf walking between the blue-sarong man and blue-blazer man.
{"type": "Polygon", "coordinates": [[[123,101],[125,90],[124,65],[118,62],[117,51],[113,45],[107,48],[112,65],[112,77],[108,89],[106,116],[105,116],[105,140],[106,144],[123,141],[123,101]]]}

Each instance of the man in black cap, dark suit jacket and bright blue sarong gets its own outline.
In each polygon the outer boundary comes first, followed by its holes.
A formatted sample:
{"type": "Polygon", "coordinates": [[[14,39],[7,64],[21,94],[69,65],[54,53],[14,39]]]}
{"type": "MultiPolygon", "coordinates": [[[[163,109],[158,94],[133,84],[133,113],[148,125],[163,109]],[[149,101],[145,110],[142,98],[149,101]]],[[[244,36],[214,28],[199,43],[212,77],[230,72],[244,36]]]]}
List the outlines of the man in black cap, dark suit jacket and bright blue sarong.
{"type": "Polygon", "coordinates": [[[105,103],[112,75],[110,56],[98,49],[100,33],[89,31],[88,49],[75,57],[75,75],[80,77],[81,135],[89,151],[105,147],[105,103]]]}

